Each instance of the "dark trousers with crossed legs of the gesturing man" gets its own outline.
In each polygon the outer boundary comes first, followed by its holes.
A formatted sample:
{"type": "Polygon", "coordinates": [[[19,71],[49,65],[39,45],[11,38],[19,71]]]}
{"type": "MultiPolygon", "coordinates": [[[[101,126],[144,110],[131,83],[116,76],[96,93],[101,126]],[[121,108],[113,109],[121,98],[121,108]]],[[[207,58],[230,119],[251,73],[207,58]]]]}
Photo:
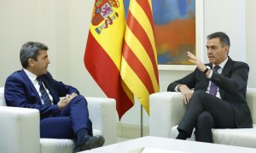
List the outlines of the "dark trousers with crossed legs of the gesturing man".
{"type": "Polygon", "coordinates": [[[194,127],[196,141],[212,143],[213,127],[236,127],[232,106],[211,94],[195,91],[177,130],[183,130],[190,138],[194,127]]]}

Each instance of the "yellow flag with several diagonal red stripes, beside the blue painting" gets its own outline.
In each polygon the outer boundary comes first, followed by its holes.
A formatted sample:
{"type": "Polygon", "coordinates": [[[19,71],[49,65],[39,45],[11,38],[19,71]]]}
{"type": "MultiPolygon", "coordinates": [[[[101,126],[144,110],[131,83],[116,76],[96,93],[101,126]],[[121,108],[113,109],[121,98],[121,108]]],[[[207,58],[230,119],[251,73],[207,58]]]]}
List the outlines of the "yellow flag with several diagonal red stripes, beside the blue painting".
{"type": "Polygon", "coordinates": [[[159,92],[151,0],[130,2],[120,73],[149,114],[149,94],[159,92]]]}

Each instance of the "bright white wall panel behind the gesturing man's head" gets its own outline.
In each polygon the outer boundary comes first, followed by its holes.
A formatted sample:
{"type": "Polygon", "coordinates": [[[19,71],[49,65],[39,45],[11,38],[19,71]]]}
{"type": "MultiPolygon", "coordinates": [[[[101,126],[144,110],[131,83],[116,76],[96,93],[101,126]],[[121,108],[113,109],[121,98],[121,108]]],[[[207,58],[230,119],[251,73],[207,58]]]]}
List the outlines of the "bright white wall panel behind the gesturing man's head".
{"type": "Polygon", "coordinates": [[[204,0],[204,37],[214,31],[224,31],[230,37],[232,59],[246,61],[246,1],[204,0]]]}

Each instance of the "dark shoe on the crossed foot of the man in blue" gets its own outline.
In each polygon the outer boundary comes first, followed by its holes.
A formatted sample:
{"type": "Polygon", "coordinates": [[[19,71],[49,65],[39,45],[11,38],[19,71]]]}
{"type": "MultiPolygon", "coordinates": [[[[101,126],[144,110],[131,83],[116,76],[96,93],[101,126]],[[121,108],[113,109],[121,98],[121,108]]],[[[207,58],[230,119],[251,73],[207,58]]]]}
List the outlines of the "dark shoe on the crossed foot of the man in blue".
{"type": "Polygon", "coordinates": [[[94,148],[101,147],[105,143],[104,137],[102,135],[96,135],[94,137],[91,137],[89,135],[86,135],[84,137],[84,143],[80,145],[80,150],[91,150],[94,148]]]}

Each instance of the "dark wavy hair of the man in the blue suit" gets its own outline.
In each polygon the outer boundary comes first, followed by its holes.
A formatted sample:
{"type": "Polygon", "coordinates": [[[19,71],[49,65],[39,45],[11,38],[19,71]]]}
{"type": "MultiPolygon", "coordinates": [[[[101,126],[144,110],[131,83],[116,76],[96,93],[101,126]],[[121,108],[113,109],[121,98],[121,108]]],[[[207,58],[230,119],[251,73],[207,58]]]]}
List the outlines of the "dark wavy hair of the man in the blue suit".
{"type": "Polygon", "coordinates": [[[23,68],[27,68],[28,59],[38,60],[38,52],[48,50],[48,47],[41,42],[26,42],[20,49],[20,63],[23,68]]]}

